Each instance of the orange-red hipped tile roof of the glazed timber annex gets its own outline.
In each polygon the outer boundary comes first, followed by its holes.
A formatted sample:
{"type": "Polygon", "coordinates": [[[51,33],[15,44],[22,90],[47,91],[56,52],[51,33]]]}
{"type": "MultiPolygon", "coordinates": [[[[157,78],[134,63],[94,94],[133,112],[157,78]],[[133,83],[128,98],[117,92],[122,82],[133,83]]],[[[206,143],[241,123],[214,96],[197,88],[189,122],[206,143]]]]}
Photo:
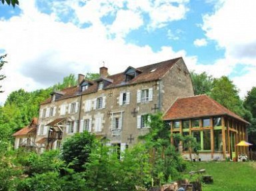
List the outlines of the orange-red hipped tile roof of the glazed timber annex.
{"type": "Polygon", "coordinates": [[[178,98],[166,112],[164,120],[175,120],[183,118],[199,118],[204,116],[228,115],[237,120],[249,124],[246,120],[231,112],[207,95],[178,98]]]}

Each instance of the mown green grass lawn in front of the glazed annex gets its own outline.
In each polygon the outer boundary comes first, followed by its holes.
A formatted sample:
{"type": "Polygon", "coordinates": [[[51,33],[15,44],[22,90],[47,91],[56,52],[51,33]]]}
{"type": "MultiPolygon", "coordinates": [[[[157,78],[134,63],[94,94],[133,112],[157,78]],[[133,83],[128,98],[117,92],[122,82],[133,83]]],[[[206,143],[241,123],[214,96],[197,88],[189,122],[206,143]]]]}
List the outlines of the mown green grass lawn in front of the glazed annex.
{"type": "Polygon", "coordinates": [[[213,184],[203,184],[203,191],[256,190],[256,162],[193,162],[189,171],[202,168],[213,176],[213,184]]]}

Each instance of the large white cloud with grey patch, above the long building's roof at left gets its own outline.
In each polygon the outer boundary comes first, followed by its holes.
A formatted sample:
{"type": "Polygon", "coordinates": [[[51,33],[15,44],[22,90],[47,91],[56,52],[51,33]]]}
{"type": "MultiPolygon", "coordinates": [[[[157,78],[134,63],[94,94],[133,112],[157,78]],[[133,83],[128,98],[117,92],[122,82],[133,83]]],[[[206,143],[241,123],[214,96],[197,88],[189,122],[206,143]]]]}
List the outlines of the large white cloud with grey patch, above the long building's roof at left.
{"type": "Polygon", "coordinates": [[[86,4],[91,9],[82,7],[80,10],[75,7],[77,3],[67,1],[76,8],[79,23],[92,24],[80,29],[74,23],[60,22],[57,12],[51,15],[41,13],[34,2],[21,1],[21,15],[0,21],[0,47],[8,53],[9,61],[4,67],[7,79],[1,82],[5,90],[0,94],[2,103],[11,91],[20,88],[33,91],[53,85],[70,73],[96,73],[102,61],[105,61],[110,74],[124,71],[129,65],[140,67],[181,56],[189,62],[188,65],[195,64],[195,57],[186,57],[185,51],[176,53],[171,47],[162,47],[154,52],[148,45],[140,47],[122,38],[109,39],[109,30],[125,35],[142,25],[143,20],[137,11],[117,11],[122,3],[114,5],[113,1],[110,7],[86,4]],[[117,15],[112,26],[101,22],[100,18],[106,14],[117,15]],[[131,15],[132,21],[124,22],[127,26],[120,24],[122,18],[131,15]]]}

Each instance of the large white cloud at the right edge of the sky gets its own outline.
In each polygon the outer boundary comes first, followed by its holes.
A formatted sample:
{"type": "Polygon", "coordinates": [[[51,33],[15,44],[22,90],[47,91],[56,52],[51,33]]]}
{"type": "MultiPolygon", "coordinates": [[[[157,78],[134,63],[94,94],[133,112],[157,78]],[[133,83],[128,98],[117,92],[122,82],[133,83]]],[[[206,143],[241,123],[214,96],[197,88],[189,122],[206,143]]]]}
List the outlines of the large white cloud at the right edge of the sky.
{"type": "MultiPolygon", "coordinates": [[[[244,95],[255,81],[249,81],[249,77],[256,73],[256,1],[217,1],[213,14],[204,15],[203,27],[205,36],[217,42],[218,47],[225,50],[223,65],[228,65],[226,75],[230,75],[236,65],[254,66],[247,75],[234,78],[237,87],[244,95]],[[231,61],[231,63],[229,63],[231,61]],[[243,79],[244,83],[239,83],[243,79]],[[246,84],[245,84],[246,82],[246,84]]],[[[217,64],[216,64],[217,69],[217,64]]]]}

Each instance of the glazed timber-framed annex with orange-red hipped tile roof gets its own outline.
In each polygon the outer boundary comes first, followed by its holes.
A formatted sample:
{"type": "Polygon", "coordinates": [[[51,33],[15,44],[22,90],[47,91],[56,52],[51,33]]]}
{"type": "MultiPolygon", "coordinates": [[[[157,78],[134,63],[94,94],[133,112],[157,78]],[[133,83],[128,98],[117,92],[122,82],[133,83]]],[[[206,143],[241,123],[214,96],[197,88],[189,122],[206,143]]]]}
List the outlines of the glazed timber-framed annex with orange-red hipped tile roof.
{"type": "MultiPolygon", "coordinates": [[[[249,122],[207,95],[177,98],[165,113],[164,120],[170,124],[171,134],[195,138],[199,145],[197,159],[234,160],[238,154],[248,154],[248,147],[236,144],[247,140],[249,122]]],[[[175,144],[173,138],[171,142],[175,144]]],[[[185,148],[182,142],[176,146],[183,156],[191,158],[190,148],[185,148]]]]}

